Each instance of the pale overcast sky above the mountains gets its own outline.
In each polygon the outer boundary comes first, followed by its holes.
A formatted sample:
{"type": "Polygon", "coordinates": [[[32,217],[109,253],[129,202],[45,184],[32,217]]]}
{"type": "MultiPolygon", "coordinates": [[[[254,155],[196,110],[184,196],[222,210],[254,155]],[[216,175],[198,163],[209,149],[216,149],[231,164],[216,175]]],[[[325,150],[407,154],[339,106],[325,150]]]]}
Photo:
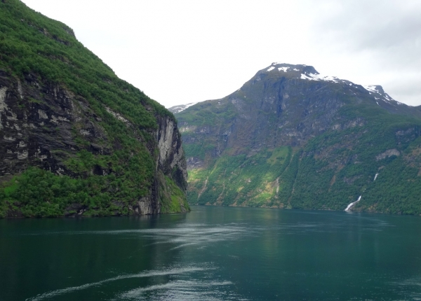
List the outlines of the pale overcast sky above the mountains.
{"type": "Polygon", "coordinates": [[[272,62],[421,105],[421,1],[23,0],[170,107],[225,97],[272,62]]]}

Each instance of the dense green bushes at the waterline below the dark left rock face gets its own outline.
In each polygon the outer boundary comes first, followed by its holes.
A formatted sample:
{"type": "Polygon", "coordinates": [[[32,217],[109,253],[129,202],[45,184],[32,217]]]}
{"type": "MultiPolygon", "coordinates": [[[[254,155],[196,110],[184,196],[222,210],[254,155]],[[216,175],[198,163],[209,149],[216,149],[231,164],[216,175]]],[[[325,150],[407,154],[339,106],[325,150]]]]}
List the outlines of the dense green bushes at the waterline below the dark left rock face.
{"type": "MultiPolygon", "coordinates": [[[[128,214],[128,207],[112,204],[112,194],[102,190],[108,182],[109,179],[103,176],[90,176],[81,181],[30,167],[0,190],[0,199],[10,204],[15,215],[20,212],[26,217],[63,216],[65,209],[72,204],[80,204],[87,211],[86,215],[128,214]]],[[[117,187],[114,184],[114,189],[117,187]]],[[[4,217],[9,208],[3,205],[2,209],[0,216],[4,217]]],[[[76,211],[70,209],[66,213],[76,214],[76,211]]]]}

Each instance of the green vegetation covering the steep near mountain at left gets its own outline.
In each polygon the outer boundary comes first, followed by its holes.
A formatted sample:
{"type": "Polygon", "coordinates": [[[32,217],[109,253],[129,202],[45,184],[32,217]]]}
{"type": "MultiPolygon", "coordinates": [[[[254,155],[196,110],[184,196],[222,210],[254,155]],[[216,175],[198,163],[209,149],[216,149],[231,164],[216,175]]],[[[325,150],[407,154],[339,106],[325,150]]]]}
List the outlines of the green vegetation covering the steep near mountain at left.
{"type": "MultiPolygon", "coordinates": [[[[16,175],[0,185],[0,214],[20,207],[24,216],[62,216],[73,203],[86,206],[87,214],[126,214],[129,205],[149,194],[154,181],[156,158],[146,146],[154,146],[150,133],[158,127],[155,116],[175,121],[173,114],[117,78],[61,22],[34,12],[18,0],[0,1],[0,20],[0,70],[22,83],[31,77],[39,83],[59,85],[84,99],[106,132],[106,139],[98,143],[110,150],[107,155],[86,151],[90,142],[79,134],[81,125],[75,123],[72,140],[76,151],[53,150],[61,152],[71,176],[56,176],[36,168],[16,175]],[[121,113],[132,126],[114,118],[105,107],[121,113]],[[95,168],[108,172],[95,175],[95,168]]],[[[25,111],[29,110],[27,104],[44,103],[42,96],[42,92],[38,99],[25,96],[20,108],[25,111]]],[[[169,184],[184,202],[180,188],[171,181],[169,184]]],[[[177,208],[166,209],[174,210],[177,208]]]]}

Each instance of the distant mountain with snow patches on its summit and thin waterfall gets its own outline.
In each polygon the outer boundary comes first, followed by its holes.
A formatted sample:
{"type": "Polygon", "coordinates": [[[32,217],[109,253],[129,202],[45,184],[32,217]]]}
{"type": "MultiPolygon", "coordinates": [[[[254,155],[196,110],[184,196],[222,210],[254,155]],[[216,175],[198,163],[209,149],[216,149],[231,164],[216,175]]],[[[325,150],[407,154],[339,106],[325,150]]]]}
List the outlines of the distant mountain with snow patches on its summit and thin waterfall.
{"type": "Polygon", "coordinates": [[[421,214],[421,115],[379,85],[274,63],[176,113],[191,204],[421,214]]]}

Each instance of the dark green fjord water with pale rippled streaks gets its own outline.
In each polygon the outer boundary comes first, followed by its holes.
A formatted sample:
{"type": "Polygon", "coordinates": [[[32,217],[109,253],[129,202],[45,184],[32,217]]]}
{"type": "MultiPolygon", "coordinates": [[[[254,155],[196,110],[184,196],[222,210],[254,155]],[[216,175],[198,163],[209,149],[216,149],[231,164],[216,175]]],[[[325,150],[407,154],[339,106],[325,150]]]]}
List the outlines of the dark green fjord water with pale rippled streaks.
{"type": "Polygon", "coordinates": [[[417,300],[421,218],[192,207],[0,221],[0,300],[417,300]]]}

